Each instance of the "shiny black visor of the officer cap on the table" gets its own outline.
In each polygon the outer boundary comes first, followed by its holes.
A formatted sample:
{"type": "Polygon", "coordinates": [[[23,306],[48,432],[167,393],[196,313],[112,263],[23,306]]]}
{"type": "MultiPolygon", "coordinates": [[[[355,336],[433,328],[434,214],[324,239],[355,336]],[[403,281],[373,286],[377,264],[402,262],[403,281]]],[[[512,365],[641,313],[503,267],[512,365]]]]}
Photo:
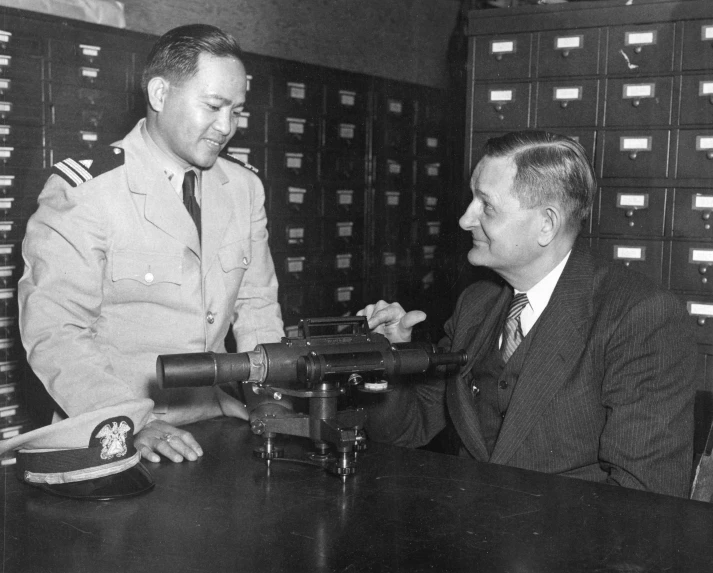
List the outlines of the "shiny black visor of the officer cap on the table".
{"type": "Polygon", "coordinates": [[[128,470],[86,481],[59,484],[32,484],[62,497],[107,501],[149,491],[155,484],[149,470],[138,463],[128,470]]]}

